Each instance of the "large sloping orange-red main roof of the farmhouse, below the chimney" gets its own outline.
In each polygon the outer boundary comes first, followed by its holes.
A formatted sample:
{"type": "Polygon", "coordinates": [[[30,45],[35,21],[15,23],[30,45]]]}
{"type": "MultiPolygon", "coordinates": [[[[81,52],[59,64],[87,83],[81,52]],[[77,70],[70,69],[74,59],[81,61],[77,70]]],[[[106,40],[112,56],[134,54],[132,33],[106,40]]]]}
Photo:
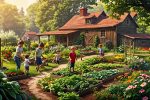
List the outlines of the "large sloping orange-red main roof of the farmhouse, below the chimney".
{"type": "Polygon", "coordinates": [[[97,12],[97,13],[94,12],[87,16],[75,15],[63,27],[59,28],[59,30],[114,27],[122,23],[127,18],[127,16],[130,16],[129,13],[125,13],[124,15],[120,16],[119,19],[114,19],[106,16],[106,18],[100,20],[96,24],[86,24],[86,20],[85,20],[86,18],[90,18],[93,16],[98,17],[102,13],[103,12],[97,12]]]}

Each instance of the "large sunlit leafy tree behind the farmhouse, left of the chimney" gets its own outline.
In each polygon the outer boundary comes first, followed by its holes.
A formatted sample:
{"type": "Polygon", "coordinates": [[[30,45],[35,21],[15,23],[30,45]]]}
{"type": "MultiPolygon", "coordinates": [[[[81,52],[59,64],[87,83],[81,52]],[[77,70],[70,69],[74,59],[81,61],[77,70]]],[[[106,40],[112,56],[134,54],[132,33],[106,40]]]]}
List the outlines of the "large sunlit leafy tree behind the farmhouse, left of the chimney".
{"type": "Polygon", "coordinates": [[[96,4],[96,0],[39,0],[35,10],[36,25],[41,32],[55,30],[77,14],[80,7],[92,4],[96,4]]]}

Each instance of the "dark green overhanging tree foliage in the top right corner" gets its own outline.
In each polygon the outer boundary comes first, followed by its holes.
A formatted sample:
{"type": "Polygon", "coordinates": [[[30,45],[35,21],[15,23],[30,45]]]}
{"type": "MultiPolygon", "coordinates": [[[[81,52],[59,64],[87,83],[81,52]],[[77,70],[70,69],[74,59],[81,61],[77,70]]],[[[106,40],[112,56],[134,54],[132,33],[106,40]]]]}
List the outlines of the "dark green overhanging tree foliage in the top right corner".
{"type": "Polygon", "coordinates": [[[124,12],[135,11],[138,14],[139,31],[145,31],[150,25],[150,0],[101,0],[111,15],[118,17],[124,12]],[[143,27],[141,27],[143,26],[143,27]]]}

